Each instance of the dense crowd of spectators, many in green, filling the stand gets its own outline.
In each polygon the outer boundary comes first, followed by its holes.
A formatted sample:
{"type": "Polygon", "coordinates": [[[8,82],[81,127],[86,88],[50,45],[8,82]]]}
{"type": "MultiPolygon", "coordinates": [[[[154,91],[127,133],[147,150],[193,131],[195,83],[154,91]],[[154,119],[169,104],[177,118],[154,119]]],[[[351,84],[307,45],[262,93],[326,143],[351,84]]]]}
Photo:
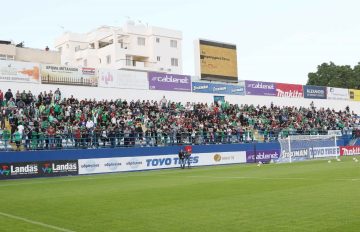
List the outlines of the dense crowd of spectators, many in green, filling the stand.
{"type": "Polygon", "coordinates": [[[260,136],[264,141],[289,134],[323,134],[328,130],[351,130],[359,124],[349,107],[270,107],[228,102],[182,104],[124,99],[91,100],[61,91],[0,90],[0,140],[5,148],[134,146],[135,144],[183,144],[247,142],[260,136]],[[6,127],[10,124],[10,130],[6,127]]]}

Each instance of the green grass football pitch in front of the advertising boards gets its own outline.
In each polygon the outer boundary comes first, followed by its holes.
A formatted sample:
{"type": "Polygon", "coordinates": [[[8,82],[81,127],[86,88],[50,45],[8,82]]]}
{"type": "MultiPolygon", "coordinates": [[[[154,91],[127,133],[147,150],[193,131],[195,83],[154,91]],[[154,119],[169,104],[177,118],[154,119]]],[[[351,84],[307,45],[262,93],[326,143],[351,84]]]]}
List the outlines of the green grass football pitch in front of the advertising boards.
{"type": "Polygon", "coordinates": [[[360,162],[0,181],[0,231],[359,231],[360,162]]]}

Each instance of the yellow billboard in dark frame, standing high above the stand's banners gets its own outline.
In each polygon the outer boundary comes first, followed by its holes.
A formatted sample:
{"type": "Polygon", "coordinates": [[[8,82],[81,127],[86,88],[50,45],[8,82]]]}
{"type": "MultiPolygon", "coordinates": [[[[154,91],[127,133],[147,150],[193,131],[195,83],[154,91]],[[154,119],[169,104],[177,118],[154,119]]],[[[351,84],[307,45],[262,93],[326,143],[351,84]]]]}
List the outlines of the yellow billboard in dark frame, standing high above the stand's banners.
{"type": "Polygon", "coordinates": [[[201,79],[237,82],[236,45],[207,40],[199,43],[201,79]]]}

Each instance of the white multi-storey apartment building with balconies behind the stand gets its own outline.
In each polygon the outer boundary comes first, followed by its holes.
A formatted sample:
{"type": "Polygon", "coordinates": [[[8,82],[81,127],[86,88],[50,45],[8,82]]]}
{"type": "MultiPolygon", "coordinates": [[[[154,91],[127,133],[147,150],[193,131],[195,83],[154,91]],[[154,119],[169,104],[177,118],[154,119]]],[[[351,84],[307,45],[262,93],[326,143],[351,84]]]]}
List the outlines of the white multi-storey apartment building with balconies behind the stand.
{"type": "Polygon", "coordinates": [[[180,31],[128,21],[122,28],[66,32],[55,48],[63,65],[182,74],[181,42],[180,31]]]}

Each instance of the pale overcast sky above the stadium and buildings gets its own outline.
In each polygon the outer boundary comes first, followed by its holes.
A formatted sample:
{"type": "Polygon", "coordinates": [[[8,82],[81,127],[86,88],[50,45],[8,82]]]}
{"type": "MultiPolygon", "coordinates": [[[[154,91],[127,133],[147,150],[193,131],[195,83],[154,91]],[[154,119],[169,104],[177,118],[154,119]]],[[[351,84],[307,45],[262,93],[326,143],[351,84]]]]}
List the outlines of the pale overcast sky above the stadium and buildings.
{"type": "Polygon", "coordinates": [[[64,29],[130,17],[183,32],[185,74],[194,74],[193,41],[205,38],[237,45],[239,79],[305,84],[323,62],[360,62],[359,9],[356,0],[12,0],[1,3],[0,40],[53,48],[64,29]]]}

